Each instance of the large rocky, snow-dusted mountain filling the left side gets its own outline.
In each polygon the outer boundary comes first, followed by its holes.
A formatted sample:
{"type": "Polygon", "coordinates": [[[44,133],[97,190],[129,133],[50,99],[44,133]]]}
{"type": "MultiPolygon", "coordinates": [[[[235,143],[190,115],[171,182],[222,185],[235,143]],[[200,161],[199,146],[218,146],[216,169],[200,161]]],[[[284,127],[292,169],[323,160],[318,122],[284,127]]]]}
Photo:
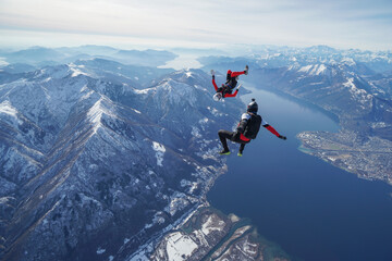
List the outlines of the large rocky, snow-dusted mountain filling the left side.
{"type": "Polygon", "coordinates": [[[120,72],[101,60],[0,72],[2,260],[121,260],[222,171],[217,132],[240,100],[215,102],[198,70],[146,88],[120,72]]]}

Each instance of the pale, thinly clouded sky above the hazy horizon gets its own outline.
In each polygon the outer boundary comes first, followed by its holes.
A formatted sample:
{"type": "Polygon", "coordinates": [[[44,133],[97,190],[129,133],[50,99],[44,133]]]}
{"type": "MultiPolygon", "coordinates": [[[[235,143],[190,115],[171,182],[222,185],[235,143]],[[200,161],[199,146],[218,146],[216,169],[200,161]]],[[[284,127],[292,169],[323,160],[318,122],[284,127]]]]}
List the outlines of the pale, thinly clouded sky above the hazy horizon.
{"type": "Polygon", "coordinates": [[[0,0],[0,47],[392,50],[392,0],[0,0]]]}

